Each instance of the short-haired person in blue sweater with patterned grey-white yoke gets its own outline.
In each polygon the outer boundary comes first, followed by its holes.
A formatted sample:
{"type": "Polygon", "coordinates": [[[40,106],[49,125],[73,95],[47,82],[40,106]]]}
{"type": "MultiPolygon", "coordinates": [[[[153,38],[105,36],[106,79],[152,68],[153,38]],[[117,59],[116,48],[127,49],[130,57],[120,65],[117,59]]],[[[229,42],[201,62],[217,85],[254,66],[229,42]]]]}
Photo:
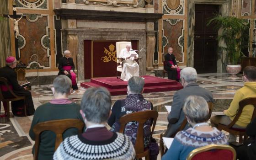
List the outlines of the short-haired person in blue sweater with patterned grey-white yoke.
{"type": "Polygon", "coordinates": [[[208,123],[209,107],[201,96],[188,96],[183,112],[192,128],[176,134],[170,149],[162,160],[186,160],[187,155],[198,147],[209,144],[227,144],[226,135],[208,123]]]}

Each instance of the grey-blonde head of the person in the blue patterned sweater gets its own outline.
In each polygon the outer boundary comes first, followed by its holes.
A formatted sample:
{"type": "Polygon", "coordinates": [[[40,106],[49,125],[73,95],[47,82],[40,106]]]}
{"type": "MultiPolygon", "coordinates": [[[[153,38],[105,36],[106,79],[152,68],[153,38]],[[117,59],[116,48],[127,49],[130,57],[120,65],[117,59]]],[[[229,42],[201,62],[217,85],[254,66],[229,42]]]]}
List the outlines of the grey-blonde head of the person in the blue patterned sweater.
{"type": "Polygon", "coordinates": [[[201,96],[188,96],[183,106],[183,112],[192,123],[202,123],[209,119],[209,107],[201,96]]]}

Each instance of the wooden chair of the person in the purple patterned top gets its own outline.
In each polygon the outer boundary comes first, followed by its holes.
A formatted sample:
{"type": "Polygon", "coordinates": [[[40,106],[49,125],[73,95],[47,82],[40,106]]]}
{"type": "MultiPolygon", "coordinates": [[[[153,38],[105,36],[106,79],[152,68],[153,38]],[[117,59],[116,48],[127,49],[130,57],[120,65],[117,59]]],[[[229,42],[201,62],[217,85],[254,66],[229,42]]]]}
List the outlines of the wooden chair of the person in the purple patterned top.
{"type": "Polygon", "coordinates": [[[144,123],[149,120],[153,119],[153,126],[150,133],[150,136],[152,137],[152,134],[155,130],[155,124],[156,119],[158,117],[158,112],[155,110],[149,110],[149,111],[141,111],[141,112],[134,112],[130,114],[126,114],[123,117],[120,118],[120,133],[124,132],[125,125],[129,122],[136,121],[139,123],[139,128],[137,130],[137,139],[134,146],[134,149],[136,151],[136,159],[145,157],[145,160],[149,160],[149,149],[144,150],[144,123]]]}

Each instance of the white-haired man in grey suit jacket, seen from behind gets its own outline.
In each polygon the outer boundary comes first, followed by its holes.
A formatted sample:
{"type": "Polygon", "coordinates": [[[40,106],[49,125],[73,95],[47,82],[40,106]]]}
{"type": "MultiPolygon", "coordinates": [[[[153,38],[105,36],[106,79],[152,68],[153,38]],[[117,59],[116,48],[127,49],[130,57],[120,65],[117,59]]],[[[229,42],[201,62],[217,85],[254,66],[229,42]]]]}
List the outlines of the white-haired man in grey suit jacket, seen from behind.
{"type": "MultiPolygon", "coordinates": [[[[183,89],[177,91],[173,96],[171,112],[169,113],[168,119],[168,128],[164,134],[164,137],[174,136],[177,129],[181,126],[185,114],[182,111],[184,100],[191,95],[202,96],[206,101],[213,101],[213,95],[210,91],[197,85],[197,71],[192,67],[186,67],[181,70],[181,85],[183,89]]],[[[184,129],[187,129],[189,126],[184,129]]]]}

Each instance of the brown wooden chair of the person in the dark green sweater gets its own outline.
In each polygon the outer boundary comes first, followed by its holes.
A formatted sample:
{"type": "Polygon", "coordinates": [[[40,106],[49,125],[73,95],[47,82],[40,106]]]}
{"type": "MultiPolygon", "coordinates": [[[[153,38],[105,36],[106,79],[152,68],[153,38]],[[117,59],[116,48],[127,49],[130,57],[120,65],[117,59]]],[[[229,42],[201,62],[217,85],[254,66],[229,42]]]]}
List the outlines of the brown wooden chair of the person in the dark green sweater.
{"type": "Polygon", "coordinates": [[[83,132],[85,123],[80,119],[61,119],[38,123],[33,127],[35,133],[35,154],[34,160],[38,159],[38,151],[40,145],[40,133],[43,131],[53,131],[56,134],[55,149],[59,147],[59,144],[63,141],[62,134],[69,128],[78,128],[78,133],[83,132]]]}

